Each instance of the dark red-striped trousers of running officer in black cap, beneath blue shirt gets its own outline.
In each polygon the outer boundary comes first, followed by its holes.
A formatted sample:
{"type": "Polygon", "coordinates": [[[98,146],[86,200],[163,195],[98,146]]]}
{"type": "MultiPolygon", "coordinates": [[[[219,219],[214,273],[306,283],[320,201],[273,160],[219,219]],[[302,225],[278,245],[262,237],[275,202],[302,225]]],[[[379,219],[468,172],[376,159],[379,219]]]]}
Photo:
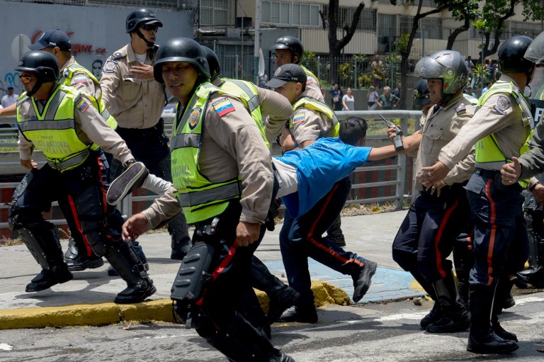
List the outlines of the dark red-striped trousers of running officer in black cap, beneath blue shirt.
{"type": "Polygon", "coordinates": [[[297,305],[313,305],[308,257],[346,275],[358,273],[365,259],[345,251],[322,234],[340,215],[351,190],[348,177],[334,184],[332,190],[314,207],[297,218],[288,212],[280,231],[280,250],[289,285],[300,293],[297,305]]]}

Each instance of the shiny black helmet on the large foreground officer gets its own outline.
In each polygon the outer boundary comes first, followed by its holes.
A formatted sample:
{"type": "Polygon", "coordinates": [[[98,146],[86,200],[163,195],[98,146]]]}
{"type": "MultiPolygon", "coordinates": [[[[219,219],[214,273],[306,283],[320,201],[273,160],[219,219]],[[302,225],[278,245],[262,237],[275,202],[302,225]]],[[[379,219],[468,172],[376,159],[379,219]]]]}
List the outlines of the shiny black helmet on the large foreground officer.
{"type": "Polygon", "coordinates": [[[210,66],[204,50],[195,40],[189,38],[173,38],[157,50],[153,74],[155,80],[164,83],[162,79],[162,64],[169,62],[187,62],[193,65],[198,74],[210,79],[210,66]]]}

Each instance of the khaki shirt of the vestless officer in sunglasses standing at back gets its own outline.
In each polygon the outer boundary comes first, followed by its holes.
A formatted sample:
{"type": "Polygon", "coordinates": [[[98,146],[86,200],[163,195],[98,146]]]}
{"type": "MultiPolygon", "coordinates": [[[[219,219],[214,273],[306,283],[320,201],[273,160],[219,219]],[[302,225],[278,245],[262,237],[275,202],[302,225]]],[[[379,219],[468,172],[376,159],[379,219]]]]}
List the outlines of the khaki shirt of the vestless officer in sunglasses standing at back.
{"type": "MultiPolygon", "coordinates": [[[[147,57],[145,64],[153,62],[147,57]]],[[[108,57],[102,69],[102,98],[122,128],[152,128],[159,122],[166,101],[162,84],[154,79],[135,79],[130,74],[130,68],[139,65],[129,43],[108,57]]]]}

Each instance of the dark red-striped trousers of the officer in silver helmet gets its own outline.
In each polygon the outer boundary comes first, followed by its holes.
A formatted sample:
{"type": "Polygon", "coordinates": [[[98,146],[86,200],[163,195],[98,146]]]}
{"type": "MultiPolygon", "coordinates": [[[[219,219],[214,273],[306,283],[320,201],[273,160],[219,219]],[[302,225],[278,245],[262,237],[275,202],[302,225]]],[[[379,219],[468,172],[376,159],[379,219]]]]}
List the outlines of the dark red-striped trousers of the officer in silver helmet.
{"type": "Polygon", "coordinates": [[[469,219],[466,191],[460,183],[442,188],[440,196],[421,191],[393,241],[393,260],[405,271],[416,268],[429,283],[444,278],[452,269],[446,258],[458,235],[469,232],[469,219]]]}

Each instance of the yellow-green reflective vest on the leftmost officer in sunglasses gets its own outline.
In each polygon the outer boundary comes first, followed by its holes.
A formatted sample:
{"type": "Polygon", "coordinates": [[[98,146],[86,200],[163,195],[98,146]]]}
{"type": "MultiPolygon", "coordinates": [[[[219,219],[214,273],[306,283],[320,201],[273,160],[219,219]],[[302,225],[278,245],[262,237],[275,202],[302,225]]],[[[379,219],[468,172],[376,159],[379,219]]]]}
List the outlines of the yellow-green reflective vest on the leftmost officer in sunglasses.
{"type": "MultiPolygon", "coordinates": [[[[77,136],[74,109],[81,94],[76,89],[58,85],[42,114],[34,98],[26,99],[32,102],[35,115],[21,115],[18,107],[18,127],[28,141],[42,150],[52,168],[61,172],[74,169],[89,157],[91,149],[98,149],[98,145],[86,145],[77,136]]],[[[89,100],[96,106],[94,98],[89,100]]]]}

